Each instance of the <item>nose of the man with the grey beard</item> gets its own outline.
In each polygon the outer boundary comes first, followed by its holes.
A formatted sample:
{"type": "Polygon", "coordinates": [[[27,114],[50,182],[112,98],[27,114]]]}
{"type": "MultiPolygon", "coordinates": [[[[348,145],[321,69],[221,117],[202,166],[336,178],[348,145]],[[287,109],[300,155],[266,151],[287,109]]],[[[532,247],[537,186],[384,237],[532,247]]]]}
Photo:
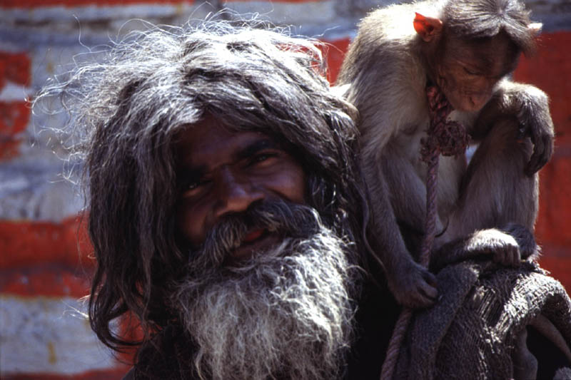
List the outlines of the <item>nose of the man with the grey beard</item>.
{"type": "Polygon", "coordinates": [[[243,212],[264,195],[251,180],[232,172],[231,168],[223,168],[218,179],[218,200],[214,214],[216,218],[233,212],[243,212]]]}

